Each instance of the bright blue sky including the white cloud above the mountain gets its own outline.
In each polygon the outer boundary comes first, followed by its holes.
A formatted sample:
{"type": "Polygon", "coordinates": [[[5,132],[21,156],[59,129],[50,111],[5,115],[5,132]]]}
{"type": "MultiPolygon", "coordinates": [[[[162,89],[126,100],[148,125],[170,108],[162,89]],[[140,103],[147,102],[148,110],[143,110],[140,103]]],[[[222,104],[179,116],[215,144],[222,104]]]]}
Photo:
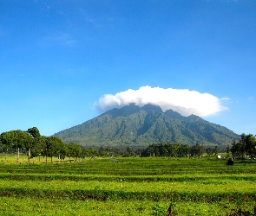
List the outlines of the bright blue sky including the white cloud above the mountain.
{"type": "Polygon", "coordinates": [[[255,135],[255,80],[254,0],[0,0],[0,133],[50,136],[161,89],[255,135]]]}

